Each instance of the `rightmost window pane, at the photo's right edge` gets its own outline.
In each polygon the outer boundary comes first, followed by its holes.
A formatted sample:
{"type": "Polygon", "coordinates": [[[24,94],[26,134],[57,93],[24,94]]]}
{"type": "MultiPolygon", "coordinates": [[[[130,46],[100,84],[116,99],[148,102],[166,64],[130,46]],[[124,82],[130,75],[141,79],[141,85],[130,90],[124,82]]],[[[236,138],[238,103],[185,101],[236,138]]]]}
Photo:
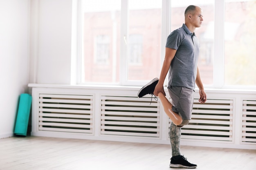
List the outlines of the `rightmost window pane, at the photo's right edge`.
{"type": "Polygon", "coordinates": [[[256,85],[256,1],[226,0],[225,85],[256,85]]]}

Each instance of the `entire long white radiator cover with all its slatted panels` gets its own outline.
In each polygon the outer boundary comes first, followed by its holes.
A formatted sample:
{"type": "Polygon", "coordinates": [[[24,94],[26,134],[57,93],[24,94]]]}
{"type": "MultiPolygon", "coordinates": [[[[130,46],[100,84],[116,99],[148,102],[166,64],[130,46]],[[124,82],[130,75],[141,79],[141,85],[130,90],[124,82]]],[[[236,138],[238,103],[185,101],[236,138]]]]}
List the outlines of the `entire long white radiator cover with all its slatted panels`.
{"type": "MultiPolygon", "coordinates": [[[[33,87],[31,135],[169,144],[171,121],[160,100],[138,98],[139,89],[33,87]]],[[[195,93],[181,144],[256,149],[255,95],[208,91],[207,96],[200,104],[195,93]]]]}

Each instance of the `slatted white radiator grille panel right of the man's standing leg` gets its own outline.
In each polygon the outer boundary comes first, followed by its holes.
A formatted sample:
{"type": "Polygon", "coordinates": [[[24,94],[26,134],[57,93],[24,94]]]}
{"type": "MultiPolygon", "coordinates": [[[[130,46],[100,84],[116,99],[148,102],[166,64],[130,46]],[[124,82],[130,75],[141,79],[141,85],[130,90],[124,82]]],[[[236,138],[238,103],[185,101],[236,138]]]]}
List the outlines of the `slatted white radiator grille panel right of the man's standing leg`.
{"type": "Polygon", "coordinates": [[[233,102],[233,99],[208,99],[200,104],[194,99],[192,119],[182,128],[182,139],[232,143],[233,102]]]}

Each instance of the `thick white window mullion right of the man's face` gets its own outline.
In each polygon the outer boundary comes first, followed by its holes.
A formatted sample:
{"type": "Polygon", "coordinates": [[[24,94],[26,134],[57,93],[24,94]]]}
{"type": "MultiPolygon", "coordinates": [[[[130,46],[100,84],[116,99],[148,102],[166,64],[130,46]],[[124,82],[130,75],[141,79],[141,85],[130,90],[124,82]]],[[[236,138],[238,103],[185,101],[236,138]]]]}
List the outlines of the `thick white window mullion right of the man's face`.
{"type": "Polygon", "coordinates": [[[224,24],[225,1],[215,0],[214,11],[214,61],[213,61],[213,86],[222,88],[224,85],[224,24]]]}

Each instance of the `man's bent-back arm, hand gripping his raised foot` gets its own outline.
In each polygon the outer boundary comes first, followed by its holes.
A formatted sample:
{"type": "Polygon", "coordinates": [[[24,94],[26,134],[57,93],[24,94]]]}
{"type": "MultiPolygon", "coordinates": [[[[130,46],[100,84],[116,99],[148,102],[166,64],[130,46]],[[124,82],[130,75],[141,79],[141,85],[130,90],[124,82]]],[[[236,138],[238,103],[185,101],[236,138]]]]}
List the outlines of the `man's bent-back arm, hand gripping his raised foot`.
{"type": "Polygon", "coordinates": [[[159,81],[157,83],[157,85],[155,86],[155,91],[154,91],[154,95],[158,96],[158,93],[162,92],[164,95],[164,79],[168,73],[168,70],[170,68],[171,62],[175,56],[177,50],[175,49],[170,49],[170,48],[165,48],[165,57],[164,57],[164,63],[162,66],[162,70],[160,73],[160,77],[159,77],[159,81]]]}

